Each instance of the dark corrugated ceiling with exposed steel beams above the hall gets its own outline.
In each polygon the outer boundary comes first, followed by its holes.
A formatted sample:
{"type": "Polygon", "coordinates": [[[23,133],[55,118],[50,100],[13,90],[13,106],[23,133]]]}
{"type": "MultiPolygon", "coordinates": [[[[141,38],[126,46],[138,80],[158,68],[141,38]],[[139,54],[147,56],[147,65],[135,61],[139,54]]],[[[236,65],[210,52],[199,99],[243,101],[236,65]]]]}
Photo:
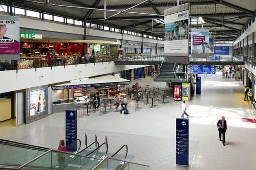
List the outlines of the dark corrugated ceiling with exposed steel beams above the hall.
{"type": "MultiPolygon", "coordinates": [[[[209,29],[217,41],[235,40],[256,15],[256,0],[180,0],[179,4],[187,2],[190,17],[205,21],[191,27],[209,29]]],[[[177,6],[177,0],[1,0],[0,4],[164,37],[164,24],[153,19],[164,19],[164,10],[177,6]]]]}

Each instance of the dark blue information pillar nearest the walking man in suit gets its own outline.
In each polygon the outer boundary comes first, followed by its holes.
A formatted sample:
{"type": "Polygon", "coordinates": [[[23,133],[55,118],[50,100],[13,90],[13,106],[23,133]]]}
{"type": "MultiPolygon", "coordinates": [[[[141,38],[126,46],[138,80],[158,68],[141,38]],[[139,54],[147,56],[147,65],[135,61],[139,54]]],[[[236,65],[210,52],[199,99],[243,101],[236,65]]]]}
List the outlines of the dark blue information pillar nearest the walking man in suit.
{"type": "Polygon", "coordinates": [[[189,165],[189,119],[176,118],[176,164],[189,165]]]}

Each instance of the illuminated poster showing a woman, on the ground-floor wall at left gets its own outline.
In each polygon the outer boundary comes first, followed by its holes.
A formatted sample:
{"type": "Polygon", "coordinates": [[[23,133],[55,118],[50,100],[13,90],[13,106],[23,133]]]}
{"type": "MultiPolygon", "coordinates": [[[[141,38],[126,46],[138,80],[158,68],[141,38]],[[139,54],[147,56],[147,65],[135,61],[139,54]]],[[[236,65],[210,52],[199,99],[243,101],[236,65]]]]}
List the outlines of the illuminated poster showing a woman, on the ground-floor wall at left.
{"type": "Polygon", "coordinates": [[[46,89],[29,91],[29,116],[46,111],[46,89]]]}

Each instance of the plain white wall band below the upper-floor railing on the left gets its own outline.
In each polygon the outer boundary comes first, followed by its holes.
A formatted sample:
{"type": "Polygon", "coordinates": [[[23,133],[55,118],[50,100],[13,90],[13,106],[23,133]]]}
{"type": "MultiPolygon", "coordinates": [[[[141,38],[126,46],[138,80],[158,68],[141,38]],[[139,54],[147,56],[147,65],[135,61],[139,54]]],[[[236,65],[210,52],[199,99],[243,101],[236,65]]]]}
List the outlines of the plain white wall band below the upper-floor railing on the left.
{"type": "Polygon", "coordinates": [[[57,66],[46,68],[20,69],[18,73],[16,70],[0,71],[0,93],[26,89],[29,87],[36,87],[40,85],[50,85],[54,83],[65,82],[69,80],[79,79],[90,76],[100,76],[128,70],[132,68],[145,67],[144,65],[115,65],[114,62],[103,62],[92,64],[57,66]],[[80,72],[81,71],[81,72],[80,72]],[[42,77],[43,76],[43,77],[42,77]],[[7,78],[8,77],[8,78],[7,78]]]}

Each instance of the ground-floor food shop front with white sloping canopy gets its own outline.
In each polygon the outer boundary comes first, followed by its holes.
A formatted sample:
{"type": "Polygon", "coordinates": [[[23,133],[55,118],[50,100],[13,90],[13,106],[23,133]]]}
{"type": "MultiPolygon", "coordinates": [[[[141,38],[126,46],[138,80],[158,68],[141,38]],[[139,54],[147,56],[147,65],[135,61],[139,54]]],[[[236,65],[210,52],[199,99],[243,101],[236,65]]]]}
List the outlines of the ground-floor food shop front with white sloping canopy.
{"type": "Polygon", "coordinates": [[[108,75],[52,86],[52,112],[80,110],[84,105],[92,105],[95,94],[101,101],[111,100],[115,96],[122,97],[126,95],[124,85],[129,82],[118,76],[108,75]]]}

